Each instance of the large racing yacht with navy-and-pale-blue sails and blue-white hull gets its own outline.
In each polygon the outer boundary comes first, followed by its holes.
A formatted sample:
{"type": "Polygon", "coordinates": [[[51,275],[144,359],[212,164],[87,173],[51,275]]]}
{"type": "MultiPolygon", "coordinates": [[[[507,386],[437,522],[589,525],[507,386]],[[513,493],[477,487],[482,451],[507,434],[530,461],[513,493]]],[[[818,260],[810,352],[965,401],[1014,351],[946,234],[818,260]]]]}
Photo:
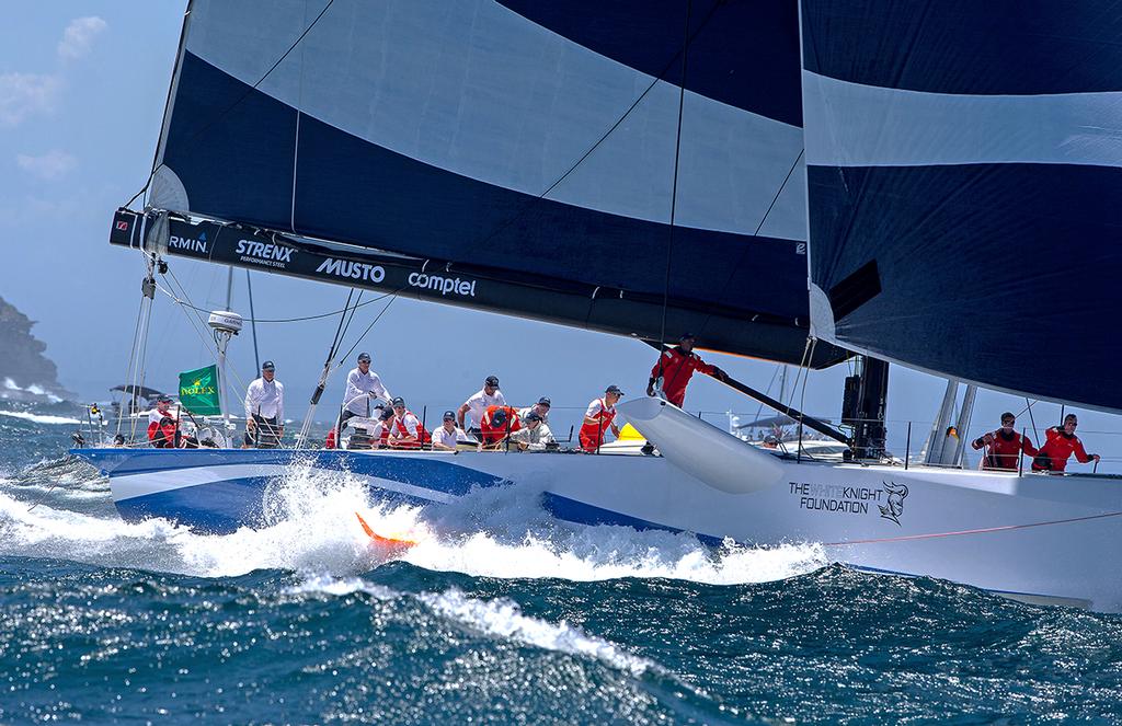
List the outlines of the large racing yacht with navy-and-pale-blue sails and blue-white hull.
{"type": "Polygon", "coordinates": [[[852,456],[764,451],[657,398],[619,406],[654,450],[77,453],[127,520],[252,526],[301,463],[377,498],[534,487],[583,524],[1120,610],[1118,479],[881,456],[884,361],[1122,410],[1092,378],[1122,352],[1098,314],[1122,272],[1110,15],[193,0],[144,206],[110,232],[147,279],[185,257],[808,369],[859,355],[852,456]]]}

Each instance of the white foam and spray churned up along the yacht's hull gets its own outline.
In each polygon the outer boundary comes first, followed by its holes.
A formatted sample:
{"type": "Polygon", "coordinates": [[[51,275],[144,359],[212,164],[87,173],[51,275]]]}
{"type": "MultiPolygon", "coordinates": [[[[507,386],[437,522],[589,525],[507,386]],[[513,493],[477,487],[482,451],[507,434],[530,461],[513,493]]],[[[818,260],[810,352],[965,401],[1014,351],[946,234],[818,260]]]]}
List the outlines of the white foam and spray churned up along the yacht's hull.
{"type": "MultiPolygon", "coordinates": [[[[89,488],[81,488],[85,502],[89,488]]],[[[257,569],[349,577],[401,558],[430,570],[477,577],[660,577],[727,585],[784,579],[828,563],[818,545],[715,550],[687,534],[567,524],[542,509],[539,491],[518,487],[485,489],[424,509],[371,507],[357,477],[302,467],[267,491],[267,526],[221,536],[196,534],[164,520],[128,524],[116,515],[72,512],[65,508],[66,496],[48,497],[29,511],[26,495],[9,491],[0,486],[0,554],[203,577],[257,569]],[[417,544],[405,552],[374,545],[356,512],[379,534],[417,544]]]]}

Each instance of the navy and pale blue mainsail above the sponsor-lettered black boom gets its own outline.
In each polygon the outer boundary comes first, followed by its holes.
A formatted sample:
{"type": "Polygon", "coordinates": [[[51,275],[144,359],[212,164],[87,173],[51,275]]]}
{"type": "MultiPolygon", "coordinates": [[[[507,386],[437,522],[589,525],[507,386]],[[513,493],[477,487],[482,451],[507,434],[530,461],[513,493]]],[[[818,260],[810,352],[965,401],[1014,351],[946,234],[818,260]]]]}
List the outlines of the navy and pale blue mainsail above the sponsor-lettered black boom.
{"type": "Polygon", "coordinates": [[[195,0],[149,204],[507,291],[444,302],[799,362],[798,84],[790,0],[195,0]]]}

